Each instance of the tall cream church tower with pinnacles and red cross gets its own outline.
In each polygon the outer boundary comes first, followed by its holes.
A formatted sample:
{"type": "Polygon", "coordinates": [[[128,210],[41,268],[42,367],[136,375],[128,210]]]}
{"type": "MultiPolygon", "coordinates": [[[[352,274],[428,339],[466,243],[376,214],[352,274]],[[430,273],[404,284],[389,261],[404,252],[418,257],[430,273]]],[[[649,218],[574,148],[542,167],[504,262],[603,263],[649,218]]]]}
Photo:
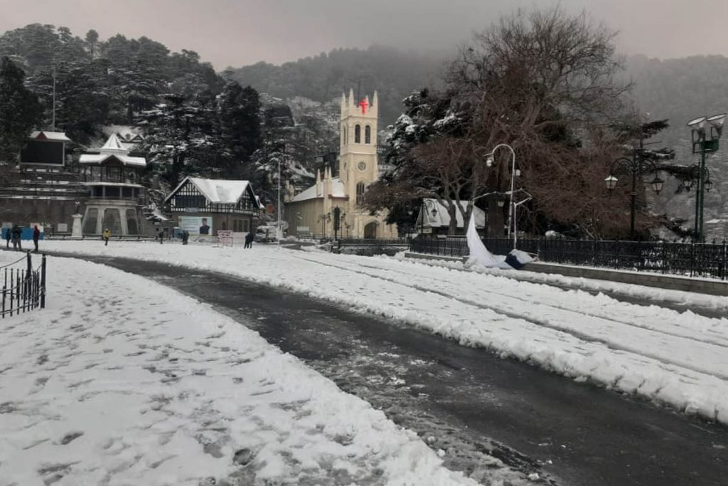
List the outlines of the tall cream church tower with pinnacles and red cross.
{"type": "Polygon", "coordinates": [[[350,205],[360,207],[366,187],[379,179],[376,160],[376,130],[379,101],[376,91],[355,101],[354,91],[349,98],[341,95],[341,126],[339,140],[339,177],[350,205]]]}

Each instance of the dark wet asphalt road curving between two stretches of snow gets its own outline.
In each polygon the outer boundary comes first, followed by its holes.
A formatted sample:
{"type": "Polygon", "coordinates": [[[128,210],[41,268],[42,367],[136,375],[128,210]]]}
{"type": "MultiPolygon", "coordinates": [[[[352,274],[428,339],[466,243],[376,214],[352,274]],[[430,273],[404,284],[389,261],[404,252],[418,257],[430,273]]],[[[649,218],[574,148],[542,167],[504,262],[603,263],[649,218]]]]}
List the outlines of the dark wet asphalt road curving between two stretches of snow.
{"type": "Polygon", "coordinates": [[[473,479],[498,470],[488,454],[560,485],[728,485],[723,426],[226,275],[87,259],[213,305],[446,451],[446,466],[473,479]]]}

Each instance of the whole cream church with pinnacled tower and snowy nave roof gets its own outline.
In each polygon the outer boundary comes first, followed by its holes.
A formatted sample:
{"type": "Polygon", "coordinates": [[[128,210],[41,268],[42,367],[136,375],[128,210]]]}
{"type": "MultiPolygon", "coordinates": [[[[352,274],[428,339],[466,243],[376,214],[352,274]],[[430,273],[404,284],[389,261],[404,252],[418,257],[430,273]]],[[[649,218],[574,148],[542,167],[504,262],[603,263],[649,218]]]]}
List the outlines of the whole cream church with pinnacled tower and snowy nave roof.
{"type": "Polygon", "coordinates": [[[371,215],[363,207],[364,192],[379,179],[376,152],[379,102],[376,92],[356,102],[353,90],[341,95],[339,174],[331,168],[316,173],[316,183],[285,203],[288,235],[333,238],[339,213],[339,238],[397,238],[397,225],[385,224],[386,213],[371,215]],[[338,210],[336,209],[338,208],[338,210]]]}

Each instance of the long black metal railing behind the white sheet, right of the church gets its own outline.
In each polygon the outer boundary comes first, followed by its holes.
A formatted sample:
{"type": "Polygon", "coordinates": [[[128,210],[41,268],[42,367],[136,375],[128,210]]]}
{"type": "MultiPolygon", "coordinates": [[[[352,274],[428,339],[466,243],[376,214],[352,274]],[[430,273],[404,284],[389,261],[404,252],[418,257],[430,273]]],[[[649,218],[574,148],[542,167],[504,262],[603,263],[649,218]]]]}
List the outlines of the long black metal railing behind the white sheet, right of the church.
{"type": "MultiPolygon", "coordinates": [[[[505,255],[513,241],[483,240],[489,251],[505,255]]],[[[518,249],[537,254],[550,263],[606,267],[621,270],[686,275],[728,280],[728,244],[669,243],[664,241],[612,241],[520,239],[518,249]]],[[[467,256],[464,237],[415,238],[410,251],[440,256],[467,256]]]]}

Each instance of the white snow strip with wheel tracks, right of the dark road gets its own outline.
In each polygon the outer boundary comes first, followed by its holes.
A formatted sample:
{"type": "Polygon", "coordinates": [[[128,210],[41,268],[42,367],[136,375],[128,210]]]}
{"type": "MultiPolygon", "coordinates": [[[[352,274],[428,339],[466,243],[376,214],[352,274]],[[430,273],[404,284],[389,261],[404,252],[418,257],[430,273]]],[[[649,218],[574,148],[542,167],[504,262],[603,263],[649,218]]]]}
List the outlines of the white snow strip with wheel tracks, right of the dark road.
{"type": "MultiPolygon", "coordinates": [[[[236,275],[395,318],[462,345],[488,348],[579,381],[590,380],[728,423],[726,318],[633,305],[502,273],[513,270],[462,272],[393,258],[260,245],[243,250],[50,241],[47,248],[236,275]]],[[[640,290],[653,297],[664,292],[640,290]]],[[[713,308],[725,306],[724,297],[695,298],[713,308]]]]}

